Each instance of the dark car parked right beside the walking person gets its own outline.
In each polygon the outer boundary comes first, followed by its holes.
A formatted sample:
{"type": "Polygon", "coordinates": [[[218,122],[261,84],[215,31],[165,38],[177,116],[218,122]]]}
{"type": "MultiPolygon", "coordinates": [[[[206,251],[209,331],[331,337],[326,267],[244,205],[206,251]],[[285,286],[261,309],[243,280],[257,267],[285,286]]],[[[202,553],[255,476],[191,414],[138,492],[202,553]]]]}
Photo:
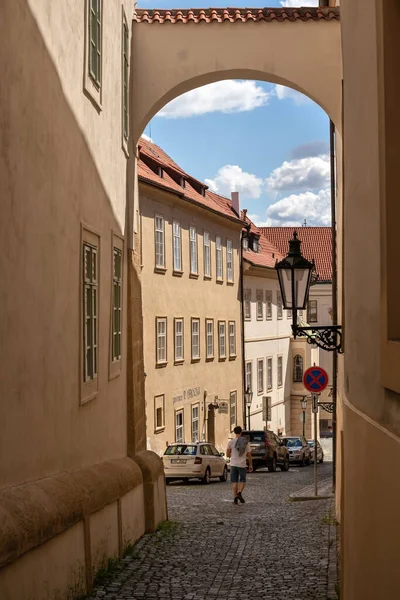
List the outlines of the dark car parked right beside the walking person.
{"type": "Polygon", "coordinates": [[[268,467],[274,473],[279,466],[281,471],[289,470],[289,452],[273,431],[243,431],[250,443],[253,471],[268,467]]]}

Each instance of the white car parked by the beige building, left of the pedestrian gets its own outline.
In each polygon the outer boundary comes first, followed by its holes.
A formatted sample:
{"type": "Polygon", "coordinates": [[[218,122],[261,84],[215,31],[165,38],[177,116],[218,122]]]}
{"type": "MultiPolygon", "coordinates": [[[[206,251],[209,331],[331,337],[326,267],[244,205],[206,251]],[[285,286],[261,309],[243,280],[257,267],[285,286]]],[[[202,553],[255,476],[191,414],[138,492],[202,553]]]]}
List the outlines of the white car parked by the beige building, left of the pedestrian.
{"type": "Polygon", "coordinates": [[[162,457],[165,481],[168,484],[174,479],[201,479],[210,483],[213,477],[226,481],[228,467],[224,456],[208,442],[170,444],[162,457]]]}

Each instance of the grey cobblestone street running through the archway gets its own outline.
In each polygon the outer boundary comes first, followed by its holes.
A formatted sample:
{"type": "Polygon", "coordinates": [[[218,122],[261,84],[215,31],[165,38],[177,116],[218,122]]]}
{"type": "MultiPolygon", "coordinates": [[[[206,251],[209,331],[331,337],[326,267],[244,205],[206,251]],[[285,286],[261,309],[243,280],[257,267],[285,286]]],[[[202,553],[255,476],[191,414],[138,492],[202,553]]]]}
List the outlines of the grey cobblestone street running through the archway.
{"type": "MultiPolygon", "coordinates": [[[[331,463],[319,466],[321,479],[331,463]]],[[[333,499],[290,502],[313,481],[313,468],[248,476],[246,503],[229,483],[168,486],[172,527],[139,540],[103,600],[336,599],[333,499]]]]}

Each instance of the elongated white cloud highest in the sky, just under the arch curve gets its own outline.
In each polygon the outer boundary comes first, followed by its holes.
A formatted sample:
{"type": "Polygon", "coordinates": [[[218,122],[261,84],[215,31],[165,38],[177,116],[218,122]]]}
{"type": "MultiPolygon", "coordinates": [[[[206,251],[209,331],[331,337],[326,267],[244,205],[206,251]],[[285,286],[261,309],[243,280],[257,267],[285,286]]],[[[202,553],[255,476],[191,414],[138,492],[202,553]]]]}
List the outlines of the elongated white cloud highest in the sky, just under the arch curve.
{"type": "Polygon", "coordinates": [[[266,92],[255,81],[217,81],[175,98],[157,116],[177,119],[212,112],[246,112],[265,106],[271,96],[273,92],[266,92]]]}

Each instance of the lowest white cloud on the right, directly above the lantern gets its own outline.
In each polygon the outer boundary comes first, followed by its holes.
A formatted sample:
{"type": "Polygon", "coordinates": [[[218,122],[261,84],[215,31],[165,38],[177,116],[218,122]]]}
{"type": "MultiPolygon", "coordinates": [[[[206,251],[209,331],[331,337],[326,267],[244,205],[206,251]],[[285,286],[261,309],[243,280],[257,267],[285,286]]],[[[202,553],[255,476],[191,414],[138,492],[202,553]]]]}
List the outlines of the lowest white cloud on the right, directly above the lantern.
{"type": "Polygon", "coordinates": [[[307,219],[307,225],[328,226],[331,217],[330,206],[329,189],[320,190],[315,194],[292,194],[268,207],[267,224],[269,227],[299,227],[304,219],[307,219]]]}

